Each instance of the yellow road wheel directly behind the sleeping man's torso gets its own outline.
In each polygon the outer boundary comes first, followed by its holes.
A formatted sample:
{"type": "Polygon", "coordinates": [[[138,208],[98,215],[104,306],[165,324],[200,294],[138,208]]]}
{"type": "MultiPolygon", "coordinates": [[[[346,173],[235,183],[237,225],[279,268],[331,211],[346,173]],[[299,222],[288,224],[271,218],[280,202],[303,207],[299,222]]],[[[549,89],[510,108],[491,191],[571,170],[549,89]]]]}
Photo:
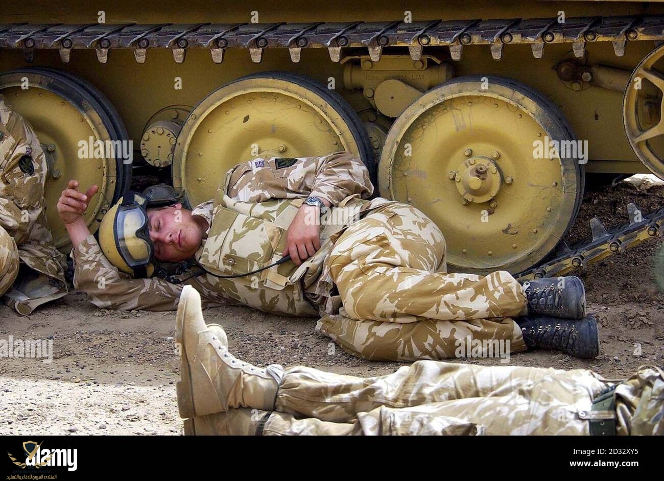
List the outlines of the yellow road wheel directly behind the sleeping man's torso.
{"type": "Polygon", "coordinates": [[[224,174],[254,157],[349,151],[375,172],[371,143],[350,105],[306,77],[268,72],[214,90],[189,114],[173,155],[173,185],[191,206],[214,198],[224,174]]]}

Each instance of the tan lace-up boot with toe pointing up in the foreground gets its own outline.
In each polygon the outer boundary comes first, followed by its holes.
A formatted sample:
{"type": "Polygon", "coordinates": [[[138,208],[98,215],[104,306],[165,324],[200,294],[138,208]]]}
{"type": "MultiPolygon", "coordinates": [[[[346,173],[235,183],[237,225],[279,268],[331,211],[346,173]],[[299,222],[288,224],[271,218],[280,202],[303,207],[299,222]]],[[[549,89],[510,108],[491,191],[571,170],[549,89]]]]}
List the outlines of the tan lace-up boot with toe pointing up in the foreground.
{"type": "Polygon", "coordinates": [[[185,286],[175,330],[182,358],[181,381],[177,383],[181,417],[204,416],[232,407],[274,410],[284,368],[271,364],[260,369],[236,359],[222,340],[225,334],[221,326],[210,330],[205,325],[201,295],[185,286]]]}

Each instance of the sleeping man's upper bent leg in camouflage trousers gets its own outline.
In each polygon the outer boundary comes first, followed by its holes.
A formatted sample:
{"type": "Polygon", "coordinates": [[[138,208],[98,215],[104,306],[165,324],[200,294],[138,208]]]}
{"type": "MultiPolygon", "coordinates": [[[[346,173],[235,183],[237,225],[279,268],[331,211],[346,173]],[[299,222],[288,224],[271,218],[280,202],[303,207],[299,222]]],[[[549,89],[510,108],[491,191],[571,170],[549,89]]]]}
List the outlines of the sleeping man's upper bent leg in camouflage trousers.
{"type": "Polygon", "coordinates": [[[347,316],[414,322],[519,316],[526,297],[506,271],[445,273],[445,241],[412,206],[397,204],[353,224],[335,243],[329,272],[347,316]]]}

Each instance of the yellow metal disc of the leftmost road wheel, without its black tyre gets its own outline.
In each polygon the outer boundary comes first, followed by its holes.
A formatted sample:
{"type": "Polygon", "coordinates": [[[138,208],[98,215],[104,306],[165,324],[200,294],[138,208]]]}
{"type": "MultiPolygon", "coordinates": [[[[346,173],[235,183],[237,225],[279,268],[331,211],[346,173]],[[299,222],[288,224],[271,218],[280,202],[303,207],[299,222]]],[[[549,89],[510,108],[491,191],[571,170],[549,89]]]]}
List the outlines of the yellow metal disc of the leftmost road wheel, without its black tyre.
{"type": "Polygon", "coordinates": [[[5,95],[7,102],[16,111],[28,119],[44,146],[47,158],[50,157],[52,161],[44,186],[46,216],[54,244],[66,251],[70,245],[69,238],[54,209],[60,193],[70,179],[78,180],[83,189],[93,184],[99,186],[99,193],[90,202],[84,215],[90,230],[96,232],[99,228],[97,219],[108,209],[113,198],[116,161],[106,158],[105,147],[103,152],[102,149],[94,149],[97,141],[105,143],[110,140],[98,112],[90,109],[89,105],[86,105],[88,109],[76,106],[68,98],[50,92],[48,81],[41,75],[26,76],[30,86],[27,90],[7,85],[0,93],[5,95]]]}

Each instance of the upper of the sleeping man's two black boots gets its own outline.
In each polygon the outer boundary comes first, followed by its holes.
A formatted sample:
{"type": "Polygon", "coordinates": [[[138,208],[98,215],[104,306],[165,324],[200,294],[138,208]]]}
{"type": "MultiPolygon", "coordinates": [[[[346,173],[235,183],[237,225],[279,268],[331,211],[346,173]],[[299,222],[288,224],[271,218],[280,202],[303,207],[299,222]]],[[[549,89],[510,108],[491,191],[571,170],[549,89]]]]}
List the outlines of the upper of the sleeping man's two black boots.
{"type": "Polygon", "coordinates": [[[528,314],[561,319],[580,319],[586,315],[586,289],[574,275],[526,281],[523,292],[528,299],[528,314]]]}

